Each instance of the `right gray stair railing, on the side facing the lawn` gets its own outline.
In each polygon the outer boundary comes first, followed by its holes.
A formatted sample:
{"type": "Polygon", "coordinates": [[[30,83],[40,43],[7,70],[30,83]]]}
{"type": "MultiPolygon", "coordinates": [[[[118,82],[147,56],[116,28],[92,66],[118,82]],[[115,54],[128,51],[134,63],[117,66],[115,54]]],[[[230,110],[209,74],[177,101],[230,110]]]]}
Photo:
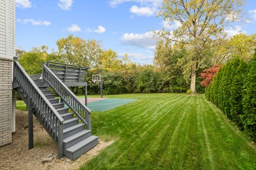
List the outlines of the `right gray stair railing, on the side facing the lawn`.
{"type": "Polygon", "coordinates": [[[69,90],[69,88],[57,77],[56,73],[43,63],[43,81],[60,96],[61,100],[76,114],[76,116],[84,124],[87,129],[91,130],[91,110],[85,106],[79,99],[69,90]]]}

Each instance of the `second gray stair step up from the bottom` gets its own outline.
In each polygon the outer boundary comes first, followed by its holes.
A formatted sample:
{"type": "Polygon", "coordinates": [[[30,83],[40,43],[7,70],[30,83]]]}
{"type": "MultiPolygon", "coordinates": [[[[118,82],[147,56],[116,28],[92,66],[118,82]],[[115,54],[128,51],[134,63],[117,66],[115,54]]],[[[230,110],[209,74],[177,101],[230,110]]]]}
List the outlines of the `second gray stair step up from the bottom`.
{"type": "Polygon", "coordinates": [[[64,148],[65,149],[70,148],[71,146],[75,145],[78,142],[81,142],[82,140],[90,137],[91,135],[92,135],[91,130],[83,130],[81,132],[73,134],[70,137],[65,138],[63,140],[64,148]]]}

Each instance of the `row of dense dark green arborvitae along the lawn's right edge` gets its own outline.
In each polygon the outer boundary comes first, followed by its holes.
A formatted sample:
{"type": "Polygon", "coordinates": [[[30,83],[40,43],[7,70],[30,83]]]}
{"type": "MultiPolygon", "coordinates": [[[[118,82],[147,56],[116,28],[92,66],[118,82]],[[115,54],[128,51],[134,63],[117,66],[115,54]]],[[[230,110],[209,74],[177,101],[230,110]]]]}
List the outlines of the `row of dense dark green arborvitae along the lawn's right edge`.
{"type": "Polygon", "coordinates": [[[256,54],[249,62],[227,62],[205,89],[205,96],[256,139],[256,54]]]}

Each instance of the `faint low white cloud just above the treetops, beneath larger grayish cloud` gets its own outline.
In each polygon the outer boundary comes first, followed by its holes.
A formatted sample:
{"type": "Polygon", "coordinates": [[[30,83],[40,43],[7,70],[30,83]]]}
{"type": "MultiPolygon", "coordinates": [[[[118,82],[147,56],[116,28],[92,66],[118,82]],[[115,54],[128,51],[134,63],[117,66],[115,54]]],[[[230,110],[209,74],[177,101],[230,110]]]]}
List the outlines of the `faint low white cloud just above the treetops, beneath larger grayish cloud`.
{"type": "Polygon", "coordinates": [[[153,64],[154,55],[146,55],[142,53],[120,53],[118,54],[119,57],[124,57],[127,54],[128,58],[135,63],[140,64],[153,64]]]}

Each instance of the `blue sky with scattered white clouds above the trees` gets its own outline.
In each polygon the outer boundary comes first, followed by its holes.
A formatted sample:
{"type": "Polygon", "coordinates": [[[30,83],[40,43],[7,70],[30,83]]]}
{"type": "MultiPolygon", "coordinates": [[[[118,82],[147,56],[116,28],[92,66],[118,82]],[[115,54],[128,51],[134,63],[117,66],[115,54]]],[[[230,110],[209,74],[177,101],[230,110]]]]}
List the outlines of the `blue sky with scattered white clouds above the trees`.
{"type": "MultiPolygon", "coordinates": [[[[104,49],[119,57],[128,54],[136,63],[152,64],[155,41],[150,30],[162,29],[156,17],[162,0],[16,0],[16,46],[29,50],[47,45],[69,34],[102,41],[104,49]]],[[[229,36],[256,33],[256,1],[244,6],[247,23],[226,28],[229,36]]],[[[174,29],[178,23],[173,23],[174,29]]]]}

